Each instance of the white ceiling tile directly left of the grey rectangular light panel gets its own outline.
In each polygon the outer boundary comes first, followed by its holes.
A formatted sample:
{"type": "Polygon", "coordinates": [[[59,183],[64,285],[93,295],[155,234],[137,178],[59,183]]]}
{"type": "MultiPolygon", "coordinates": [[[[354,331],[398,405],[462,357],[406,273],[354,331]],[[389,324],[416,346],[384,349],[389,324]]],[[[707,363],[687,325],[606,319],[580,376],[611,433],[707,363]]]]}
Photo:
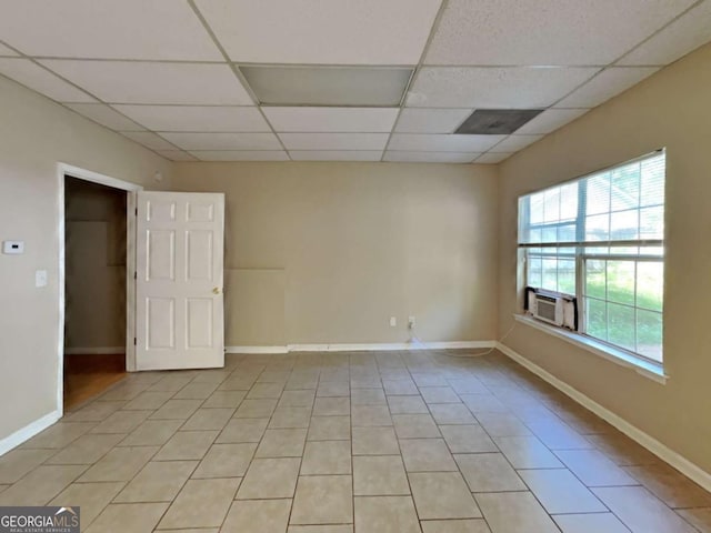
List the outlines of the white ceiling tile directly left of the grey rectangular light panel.
{"type": "Polygon", "coordinates": [[[72,60],[41,62],[108,103],[252,103],[227,64],[72,60]]]}

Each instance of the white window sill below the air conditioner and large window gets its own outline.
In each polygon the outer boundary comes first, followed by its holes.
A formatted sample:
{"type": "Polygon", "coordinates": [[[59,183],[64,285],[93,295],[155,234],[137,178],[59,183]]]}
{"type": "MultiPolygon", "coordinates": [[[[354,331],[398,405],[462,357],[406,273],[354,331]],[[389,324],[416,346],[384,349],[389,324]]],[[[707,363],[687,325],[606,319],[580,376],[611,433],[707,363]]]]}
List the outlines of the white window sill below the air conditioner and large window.
{"type": "Polygon", "coordinates": [[[565,342],[569,342],[578,348],[587,350],[590,353],[594,353],[598,356],[612,361],[615,364],[634,370],[638,374],[649,378],[658,383],[664,384],[669,376],[664,374],[664,369],[661,364],[647,361],[642,358],[637,358],[631,353],[623,350],[618,350],[603,342],[595,341],[580,333],[567,331],[554,325],[545,324],[539,320],[535,320],[525,314],[514,314],[513,318],[517,322],[530,325],[537,330],[543,331],[550,335],[558,336],[565,342]]]}

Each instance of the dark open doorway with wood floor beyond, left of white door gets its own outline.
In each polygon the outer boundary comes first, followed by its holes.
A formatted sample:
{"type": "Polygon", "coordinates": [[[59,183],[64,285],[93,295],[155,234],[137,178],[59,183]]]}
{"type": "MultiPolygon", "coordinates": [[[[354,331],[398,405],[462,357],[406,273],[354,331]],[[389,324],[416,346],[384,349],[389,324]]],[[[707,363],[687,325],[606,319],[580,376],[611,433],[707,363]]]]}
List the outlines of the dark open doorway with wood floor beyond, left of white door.
{"type": "Polygon", "coordinates": [[[63,404],[126,375],[127,191],[64,178],[63,404]]]}

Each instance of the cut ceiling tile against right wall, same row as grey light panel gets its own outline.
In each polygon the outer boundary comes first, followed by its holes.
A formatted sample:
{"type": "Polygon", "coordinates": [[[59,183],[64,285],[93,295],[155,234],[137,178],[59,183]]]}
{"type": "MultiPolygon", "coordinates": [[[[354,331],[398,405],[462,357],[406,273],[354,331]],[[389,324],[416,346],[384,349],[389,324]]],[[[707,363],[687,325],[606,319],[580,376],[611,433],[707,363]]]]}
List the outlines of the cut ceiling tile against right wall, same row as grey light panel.
{"type": "Polygon", "coordinates": [[[594,108],[653,74],[655,67],[612,67],[595,76],[555,104],[557,108],[594,108]]]}

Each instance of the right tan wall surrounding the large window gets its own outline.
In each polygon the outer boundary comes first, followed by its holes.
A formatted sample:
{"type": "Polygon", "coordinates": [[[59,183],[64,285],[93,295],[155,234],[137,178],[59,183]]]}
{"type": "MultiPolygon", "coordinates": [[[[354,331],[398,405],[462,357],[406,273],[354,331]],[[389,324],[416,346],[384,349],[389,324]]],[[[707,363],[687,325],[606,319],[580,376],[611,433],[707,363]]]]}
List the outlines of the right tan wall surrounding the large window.
{"type": "Polygon", "coordinates": [[[519,194],[667,147],[665,385],[518,324],[505,343],[711,472],[711,46],[500,167],[499,332],[517,311],[519,194]]]}

